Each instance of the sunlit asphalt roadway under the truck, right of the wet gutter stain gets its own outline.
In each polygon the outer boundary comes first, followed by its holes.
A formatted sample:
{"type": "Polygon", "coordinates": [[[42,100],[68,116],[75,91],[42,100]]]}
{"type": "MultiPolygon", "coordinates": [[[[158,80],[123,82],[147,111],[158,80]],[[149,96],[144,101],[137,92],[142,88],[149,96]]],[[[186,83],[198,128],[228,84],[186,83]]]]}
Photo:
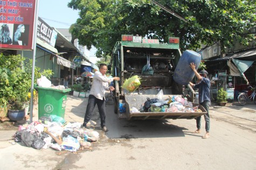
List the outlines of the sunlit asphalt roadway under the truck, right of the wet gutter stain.
{"type": "MultiPolygon", "coordinates": [[[[109,131],[94,150],[69,154],[55,169],[256,169],[256,133],[216,117],[221,108],[211,110],[209,139],[191,133],[195,119],[119,120],[110,100],[106,110],[109,131]]],[[[99,129],[98,113],[93,119],[99,129]]]]}

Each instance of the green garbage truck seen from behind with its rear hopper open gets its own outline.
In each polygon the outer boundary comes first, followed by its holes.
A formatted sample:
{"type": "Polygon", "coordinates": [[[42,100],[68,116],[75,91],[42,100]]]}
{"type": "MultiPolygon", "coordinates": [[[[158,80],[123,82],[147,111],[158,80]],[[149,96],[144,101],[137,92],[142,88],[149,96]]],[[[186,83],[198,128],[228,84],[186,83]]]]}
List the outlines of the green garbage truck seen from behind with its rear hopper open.
{"type": "Polygon", "coordinates": [[[174,81],[176,65],[181,58],[179,38],[169,37],[168,43],[160,43],[158,39],[144,39],[141,36],[122,35],[117,41],[110,65],[113,76],[120,77],[114,81],[112,92],[114,112],[120,119],[193,119],[206,113],[202,105],[193,103],[195,91],[188,85],[189,93],[184,93],[184,86],[174,81]],[[122,88],[124,81],[132,76],[140,77],[140,86],[135,91],[122,88]],[[188,97],[192,107],[200,112],[181,111],[139,111],[148,99],[157,98],[162,90],[163,99],[172,97],[188,97]],[[125,109],[120,109],[120,106],[125,109]],[[137,111],[132,110],[137,108],[137,111]]]}

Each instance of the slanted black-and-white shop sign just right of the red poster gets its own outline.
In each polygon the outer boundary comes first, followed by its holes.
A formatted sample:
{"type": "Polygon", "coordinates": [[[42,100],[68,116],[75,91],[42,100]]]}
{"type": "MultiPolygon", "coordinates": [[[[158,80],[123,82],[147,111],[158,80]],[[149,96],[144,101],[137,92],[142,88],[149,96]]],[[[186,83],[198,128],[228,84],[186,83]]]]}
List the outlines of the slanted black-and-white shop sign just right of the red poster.
{"type": "Polygon", "coordinates": [[[50,44],[51,46],[55,46],[55,42],[57,39],[57,32],[52,29],[48,24],[44,22],[43,19],[38,17],[37,22],[37,37],[43,41],[45,41],[47,44],[50,44]]]}

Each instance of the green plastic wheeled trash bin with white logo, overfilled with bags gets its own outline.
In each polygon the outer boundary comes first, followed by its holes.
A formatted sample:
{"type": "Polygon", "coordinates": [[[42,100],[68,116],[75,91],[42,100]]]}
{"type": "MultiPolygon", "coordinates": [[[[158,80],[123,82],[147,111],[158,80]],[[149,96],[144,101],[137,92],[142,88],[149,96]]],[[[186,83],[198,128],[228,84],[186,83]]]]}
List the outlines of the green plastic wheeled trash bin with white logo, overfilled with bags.
{"type": "Polygon", "coordinates": [[[43,116],[65,116],[67,93],[71,89],[54,89],[36,87],[38,89],[38,118],[43,116]]]}

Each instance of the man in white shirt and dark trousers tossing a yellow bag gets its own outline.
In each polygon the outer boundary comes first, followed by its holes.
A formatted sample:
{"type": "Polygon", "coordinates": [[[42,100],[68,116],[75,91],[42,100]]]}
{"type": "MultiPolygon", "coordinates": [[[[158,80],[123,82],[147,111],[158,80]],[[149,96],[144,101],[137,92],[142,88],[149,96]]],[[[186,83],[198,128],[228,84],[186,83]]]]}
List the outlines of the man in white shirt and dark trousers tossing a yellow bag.
{"type": "Polygon", "coordinates": [[[108,82],[112,82],[113,80],[119,81],[119,77],[108,78],[106,76],[107,73],[107,65],[105,63],[100,64],[100,71],[96,71],[93,76],[93,83],[89,93],[89,100],[85,112],[85,119],[82,126],[87,128],[86,124],[90,121],[95,105],[98,105],[99,114],[100,114],[100,126],[103,131],[107,131],[105,126],[105,90],[113,91],[115,88],[113,86],[108,86],[108,82]]]}

